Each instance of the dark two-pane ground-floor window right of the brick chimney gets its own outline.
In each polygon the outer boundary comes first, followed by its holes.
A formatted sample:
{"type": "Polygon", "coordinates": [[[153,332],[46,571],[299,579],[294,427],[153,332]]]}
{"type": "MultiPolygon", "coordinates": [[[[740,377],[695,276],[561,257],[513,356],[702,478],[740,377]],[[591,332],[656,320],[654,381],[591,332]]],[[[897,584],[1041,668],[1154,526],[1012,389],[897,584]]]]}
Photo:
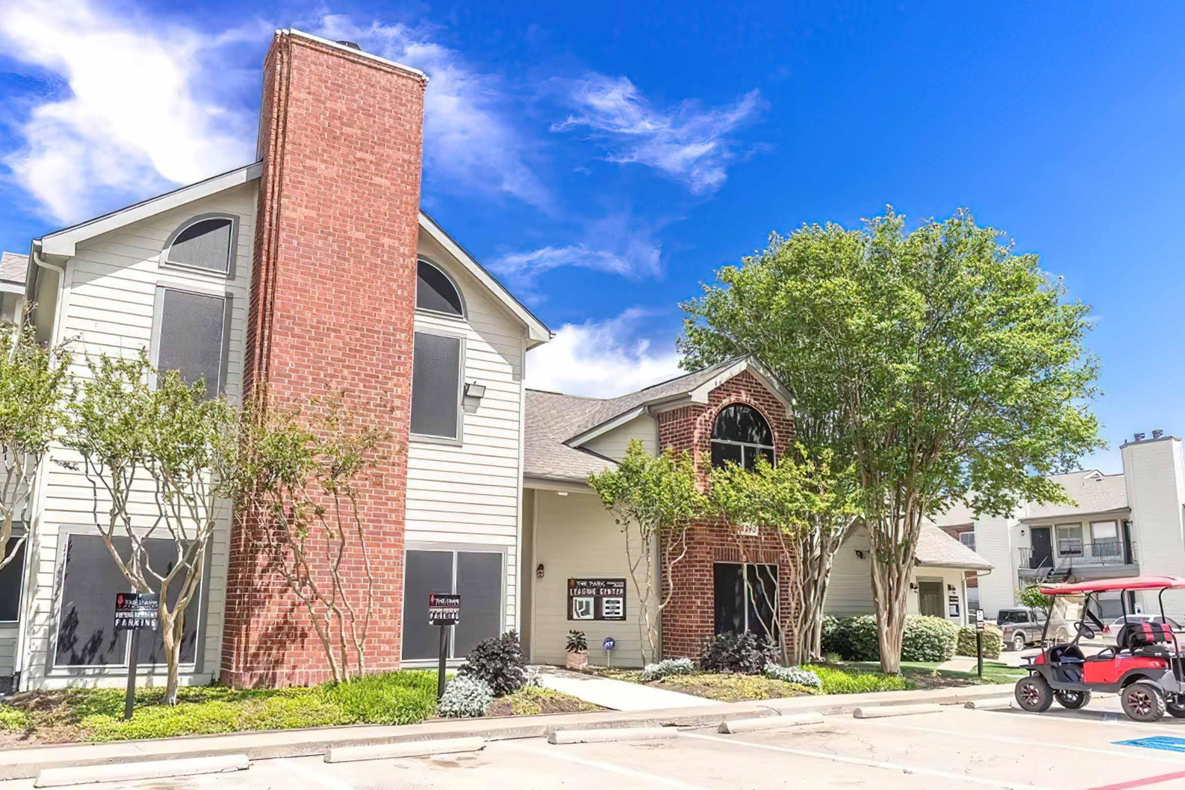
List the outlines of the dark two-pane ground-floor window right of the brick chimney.
{"type": "Polygon", "coordinates": [[[501,552],[409,548],[403,582],[403,659],[440,656],[440,627],[428,624],[428,596],[461,596],[461,622],[449,634],[449,659],[463,659],[481,642],[502,632],[501,552]]]}

